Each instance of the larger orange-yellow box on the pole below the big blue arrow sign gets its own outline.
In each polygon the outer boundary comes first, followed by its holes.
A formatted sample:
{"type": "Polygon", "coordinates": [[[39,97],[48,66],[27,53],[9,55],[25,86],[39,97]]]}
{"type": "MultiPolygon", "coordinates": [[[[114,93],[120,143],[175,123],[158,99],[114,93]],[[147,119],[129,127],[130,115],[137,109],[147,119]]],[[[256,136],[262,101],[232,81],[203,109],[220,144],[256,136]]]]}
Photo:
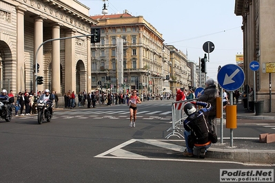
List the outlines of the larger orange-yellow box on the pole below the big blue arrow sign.
{"type": "Polygon", "coordinates": [[[237,106],[236,105],[226,106],[226,128],[227,129],[237,128],[237,106]]]}

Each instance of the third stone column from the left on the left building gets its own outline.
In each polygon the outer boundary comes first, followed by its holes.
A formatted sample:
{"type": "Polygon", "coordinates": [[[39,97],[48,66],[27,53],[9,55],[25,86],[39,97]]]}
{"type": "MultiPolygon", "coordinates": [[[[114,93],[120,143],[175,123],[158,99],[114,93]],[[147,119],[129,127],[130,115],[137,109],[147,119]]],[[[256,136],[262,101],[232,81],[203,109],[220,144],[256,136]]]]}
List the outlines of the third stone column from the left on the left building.
{"type": "MultiPolygon", "coordinates": [[[[60,25],[52,26],[52,39],[60,38],[60,25]]],[[[60,40],[52,41],[52,91],[60,94],[60,40]]],[[[51,92],[52,92],[51,91],[51,92]]]]}

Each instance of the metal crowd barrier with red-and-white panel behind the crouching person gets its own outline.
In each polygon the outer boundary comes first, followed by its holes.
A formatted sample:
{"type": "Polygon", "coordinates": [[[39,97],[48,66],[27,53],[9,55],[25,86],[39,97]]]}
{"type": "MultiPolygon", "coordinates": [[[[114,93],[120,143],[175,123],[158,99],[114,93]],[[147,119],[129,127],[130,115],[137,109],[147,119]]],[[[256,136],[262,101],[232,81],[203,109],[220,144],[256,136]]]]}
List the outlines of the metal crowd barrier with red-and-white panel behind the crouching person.
{"type": "Polygon", "coordinates": [[[172,127],[167,129],[166,131],[171,131],[165,138],[170,138],[172,136],[176,136],[178,138],[183,137],[183,121],[187,118],[187,115],[184,112],[185,103],[196,101],[198,98],[190,99],[190,100],[181,100],[172,103],[172,127]]]}

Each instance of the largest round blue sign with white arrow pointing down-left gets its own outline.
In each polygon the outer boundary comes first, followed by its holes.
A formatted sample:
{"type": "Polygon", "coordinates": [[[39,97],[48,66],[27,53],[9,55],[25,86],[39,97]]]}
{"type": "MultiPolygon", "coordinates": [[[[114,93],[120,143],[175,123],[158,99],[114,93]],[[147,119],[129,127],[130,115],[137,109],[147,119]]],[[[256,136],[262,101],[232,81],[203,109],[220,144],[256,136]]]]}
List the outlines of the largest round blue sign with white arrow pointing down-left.
{"type": "Polygon", "coordinates": [[[241,67],[234,64],[227,64],[218,71],[218,84],[228,91],[239,89],[245,81],[245,73],[241,67]]]}

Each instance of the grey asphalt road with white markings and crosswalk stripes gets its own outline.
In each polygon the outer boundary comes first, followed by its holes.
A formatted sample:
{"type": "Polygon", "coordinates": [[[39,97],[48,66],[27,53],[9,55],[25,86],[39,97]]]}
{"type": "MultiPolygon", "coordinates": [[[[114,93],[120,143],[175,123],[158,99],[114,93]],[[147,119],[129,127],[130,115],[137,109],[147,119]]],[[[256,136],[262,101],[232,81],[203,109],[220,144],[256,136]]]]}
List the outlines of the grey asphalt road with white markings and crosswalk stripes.
{"type": "MultiPolygon", "coordinates": [[[[139,105],[135,128],[127,105],[54,111],[42,125],[37,116],[1,120],[0,182],[219,182],[220,169],[270,169],[183,157],[182,140],[165,139],[171,102],[139,105]]],[[[240,122],[234,136],[274,133],[255,123],[240,122]]]]}

